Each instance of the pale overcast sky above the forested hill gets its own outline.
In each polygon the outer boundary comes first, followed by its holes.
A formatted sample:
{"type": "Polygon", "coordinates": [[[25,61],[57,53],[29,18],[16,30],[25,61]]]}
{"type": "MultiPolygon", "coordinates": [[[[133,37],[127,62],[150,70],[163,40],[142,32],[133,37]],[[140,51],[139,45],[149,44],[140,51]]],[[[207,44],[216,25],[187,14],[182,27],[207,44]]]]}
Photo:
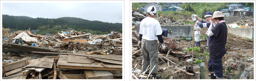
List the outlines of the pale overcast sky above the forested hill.
{"type": "Polygon", "coordinates": [[[3,2],[2,14],[32,18],[76,17],[108,23],[122,23],[121,2],[3,2]]]}

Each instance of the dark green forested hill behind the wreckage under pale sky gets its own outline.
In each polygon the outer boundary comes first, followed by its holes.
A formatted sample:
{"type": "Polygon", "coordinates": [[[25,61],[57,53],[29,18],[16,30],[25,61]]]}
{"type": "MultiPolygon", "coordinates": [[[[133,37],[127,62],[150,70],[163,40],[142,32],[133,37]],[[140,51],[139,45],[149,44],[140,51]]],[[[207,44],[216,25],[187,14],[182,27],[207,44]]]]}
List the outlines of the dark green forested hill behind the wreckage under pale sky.
{"type": "Polygon", "coordinates": [[[62,29],[71,27],[73,29],[89,29],[102,32],[110,32],[110,30],[121,30],[122,23],[107,23],[102,21],[90,21],[74,17],[62,17],[57,19],[48,18],[31,18],[26,16],[10,16],[2,15],[2,26],[4,28],[25,30],[30,27],[37,30],[40,26],[48,26],[49,29],[55,25],[61,26],[62,29]]]}

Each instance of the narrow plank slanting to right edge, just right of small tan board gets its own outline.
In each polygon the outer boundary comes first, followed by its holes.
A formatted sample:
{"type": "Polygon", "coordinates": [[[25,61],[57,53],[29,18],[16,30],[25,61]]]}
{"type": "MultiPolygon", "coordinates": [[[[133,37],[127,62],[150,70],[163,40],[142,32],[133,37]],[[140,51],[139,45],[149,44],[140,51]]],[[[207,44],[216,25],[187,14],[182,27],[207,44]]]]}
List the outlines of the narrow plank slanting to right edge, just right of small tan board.
{"type": "Polygon", "coordinates": [[[89,59],[93,59],[96,61],[101,61],[101,62],[106,62],[106,63],[112,63],[112,64],[120,64],[122,65],[122,61],[114,61],[114,60],[108,60],[108,59],[103,59],[103,58],[96,58],[96,57],[87,57],[89,59]]]}

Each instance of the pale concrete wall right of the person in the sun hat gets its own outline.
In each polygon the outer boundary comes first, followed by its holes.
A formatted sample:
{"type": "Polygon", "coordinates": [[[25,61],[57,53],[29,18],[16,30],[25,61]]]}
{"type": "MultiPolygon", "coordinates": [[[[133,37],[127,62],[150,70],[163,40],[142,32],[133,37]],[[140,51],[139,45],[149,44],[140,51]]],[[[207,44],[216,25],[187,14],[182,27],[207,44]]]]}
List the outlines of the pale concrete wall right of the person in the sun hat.
{"type": "Polygon", "coordinates": [[[254,40],[254,28],[241,27],[241,28],[228,28],[229,33],[239,35],[241,37],[247,37],[254,40]]]}

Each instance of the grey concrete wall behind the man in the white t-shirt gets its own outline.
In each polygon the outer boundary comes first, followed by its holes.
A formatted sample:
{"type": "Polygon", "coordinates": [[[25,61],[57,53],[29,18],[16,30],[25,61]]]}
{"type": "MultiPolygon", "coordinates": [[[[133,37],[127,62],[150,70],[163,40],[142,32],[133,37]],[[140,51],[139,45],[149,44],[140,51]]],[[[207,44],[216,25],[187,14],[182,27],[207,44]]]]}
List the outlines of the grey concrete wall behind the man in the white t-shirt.
{"type": "MultiPolygon", "coordinates": [[[[132,25],[137,26],[137,29],[134,29],[132,31],[139,32],[140,25],[132,25]]],[[[193,36],[193,26],[161,26],[162,29],[171,29],[172,33],[168,34],[169,38],[174,38],[176,36],[182,36],[182,37],[192,37],[193,36]]]]}

